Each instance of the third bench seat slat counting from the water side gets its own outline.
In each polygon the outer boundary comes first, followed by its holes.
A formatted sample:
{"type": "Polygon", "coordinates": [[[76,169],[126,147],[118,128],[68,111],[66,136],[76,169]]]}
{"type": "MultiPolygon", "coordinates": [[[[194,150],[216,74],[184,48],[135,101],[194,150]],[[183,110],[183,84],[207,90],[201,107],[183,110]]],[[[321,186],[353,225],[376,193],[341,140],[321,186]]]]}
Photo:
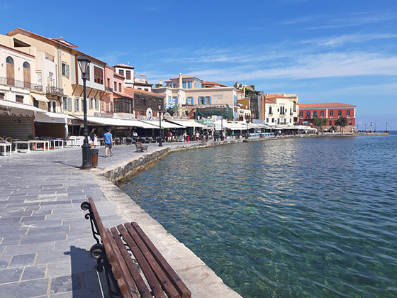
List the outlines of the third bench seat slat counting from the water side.
{"type": "Polygon", "coordinates": [[[123,225],[117,226],[118,231],[120,231],[121,235],[123,236],[124,241],[130,247],[131,252],[133,253],[135,259],[138,261],[140,268],[142,269],[143,274],[146,277],[147,282],[152,289],[154,296],[157,298],[166,298],[160,283],[157,280],[155,273],[153,272],[152,268],[150,267],[149,263],[145,259],[145,256],[142,255],[142,252],[138,248],[137,244],[135,243],[134,239],[130,236],[130,234],[125,230],[123,225]]]}

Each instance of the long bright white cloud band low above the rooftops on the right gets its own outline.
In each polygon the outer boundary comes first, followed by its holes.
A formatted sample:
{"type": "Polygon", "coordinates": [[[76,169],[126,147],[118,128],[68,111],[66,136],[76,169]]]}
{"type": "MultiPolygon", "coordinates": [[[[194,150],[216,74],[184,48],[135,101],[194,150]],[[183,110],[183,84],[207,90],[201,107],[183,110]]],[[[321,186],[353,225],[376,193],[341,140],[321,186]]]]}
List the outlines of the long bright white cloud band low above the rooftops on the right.
{"type": "Polygon", "coordinates": [[[261,79],[313,79],[325,77],[357,77],[367,75],[397,75],[397,56],[371,53],[325,53],[298,58],[293,65],[247,68],[223,67],[191,71],[199,77],[223,81],[261,79]]]}

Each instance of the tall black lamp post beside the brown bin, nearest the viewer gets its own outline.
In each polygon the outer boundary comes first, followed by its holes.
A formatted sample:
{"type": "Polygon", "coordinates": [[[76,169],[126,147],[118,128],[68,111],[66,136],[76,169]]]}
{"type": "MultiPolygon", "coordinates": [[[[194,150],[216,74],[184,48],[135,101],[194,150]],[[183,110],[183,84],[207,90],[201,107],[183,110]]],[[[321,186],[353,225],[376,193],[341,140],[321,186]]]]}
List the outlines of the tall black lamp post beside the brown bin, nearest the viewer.
{"type": "MultiPolygon", "coordinates": [[[[77,61],[79,62],[80,70],[82,71],[82,79],[83,79],[83,89],[84,89],[84,144],[82,145],[83,151],[83,165],[80,167],[82,170],[91,169],[91,155],[89,154],[90,145],[88,143],[88,128],[86,123],[86,74],[89,70],[89,64],[91,60],[89,60],[86,56],[77,57],[77,61]]],[[[77,78],[78,83],[78,78],[77,78]]]]}

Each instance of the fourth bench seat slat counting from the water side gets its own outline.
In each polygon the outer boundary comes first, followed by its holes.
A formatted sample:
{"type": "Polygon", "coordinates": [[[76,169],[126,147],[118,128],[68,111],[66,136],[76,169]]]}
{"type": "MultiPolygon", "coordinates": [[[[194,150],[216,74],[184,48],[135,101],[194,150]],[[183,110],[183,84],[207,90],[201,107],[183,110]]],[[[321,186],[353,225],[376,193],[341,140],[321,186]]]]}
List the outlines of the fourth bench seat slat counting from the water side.
{"type": "Polygon", "coordinates": [[[127,248],[125,248],[125,245],[124,245],[123,241],[121,240],[120,235],[118,234],[118,231],[116,230],[116,228],[111,228],[111,233],[113,235],[114,240],[117,243],[117,246],[121,252],[121,255],[123,255],[123,259],[124,259],[125,263],[127,264],[130,274],[133,277],[135,285],[138,287],[140,296],[142,298],[152,298],[152,294],[150,294],[149,289],[147,289],[145,281],[142,279],[142,276],[140,275],[138,267],[133,262],[133,259],[131,258],[130,253],[128,253],[127,248]]]}

